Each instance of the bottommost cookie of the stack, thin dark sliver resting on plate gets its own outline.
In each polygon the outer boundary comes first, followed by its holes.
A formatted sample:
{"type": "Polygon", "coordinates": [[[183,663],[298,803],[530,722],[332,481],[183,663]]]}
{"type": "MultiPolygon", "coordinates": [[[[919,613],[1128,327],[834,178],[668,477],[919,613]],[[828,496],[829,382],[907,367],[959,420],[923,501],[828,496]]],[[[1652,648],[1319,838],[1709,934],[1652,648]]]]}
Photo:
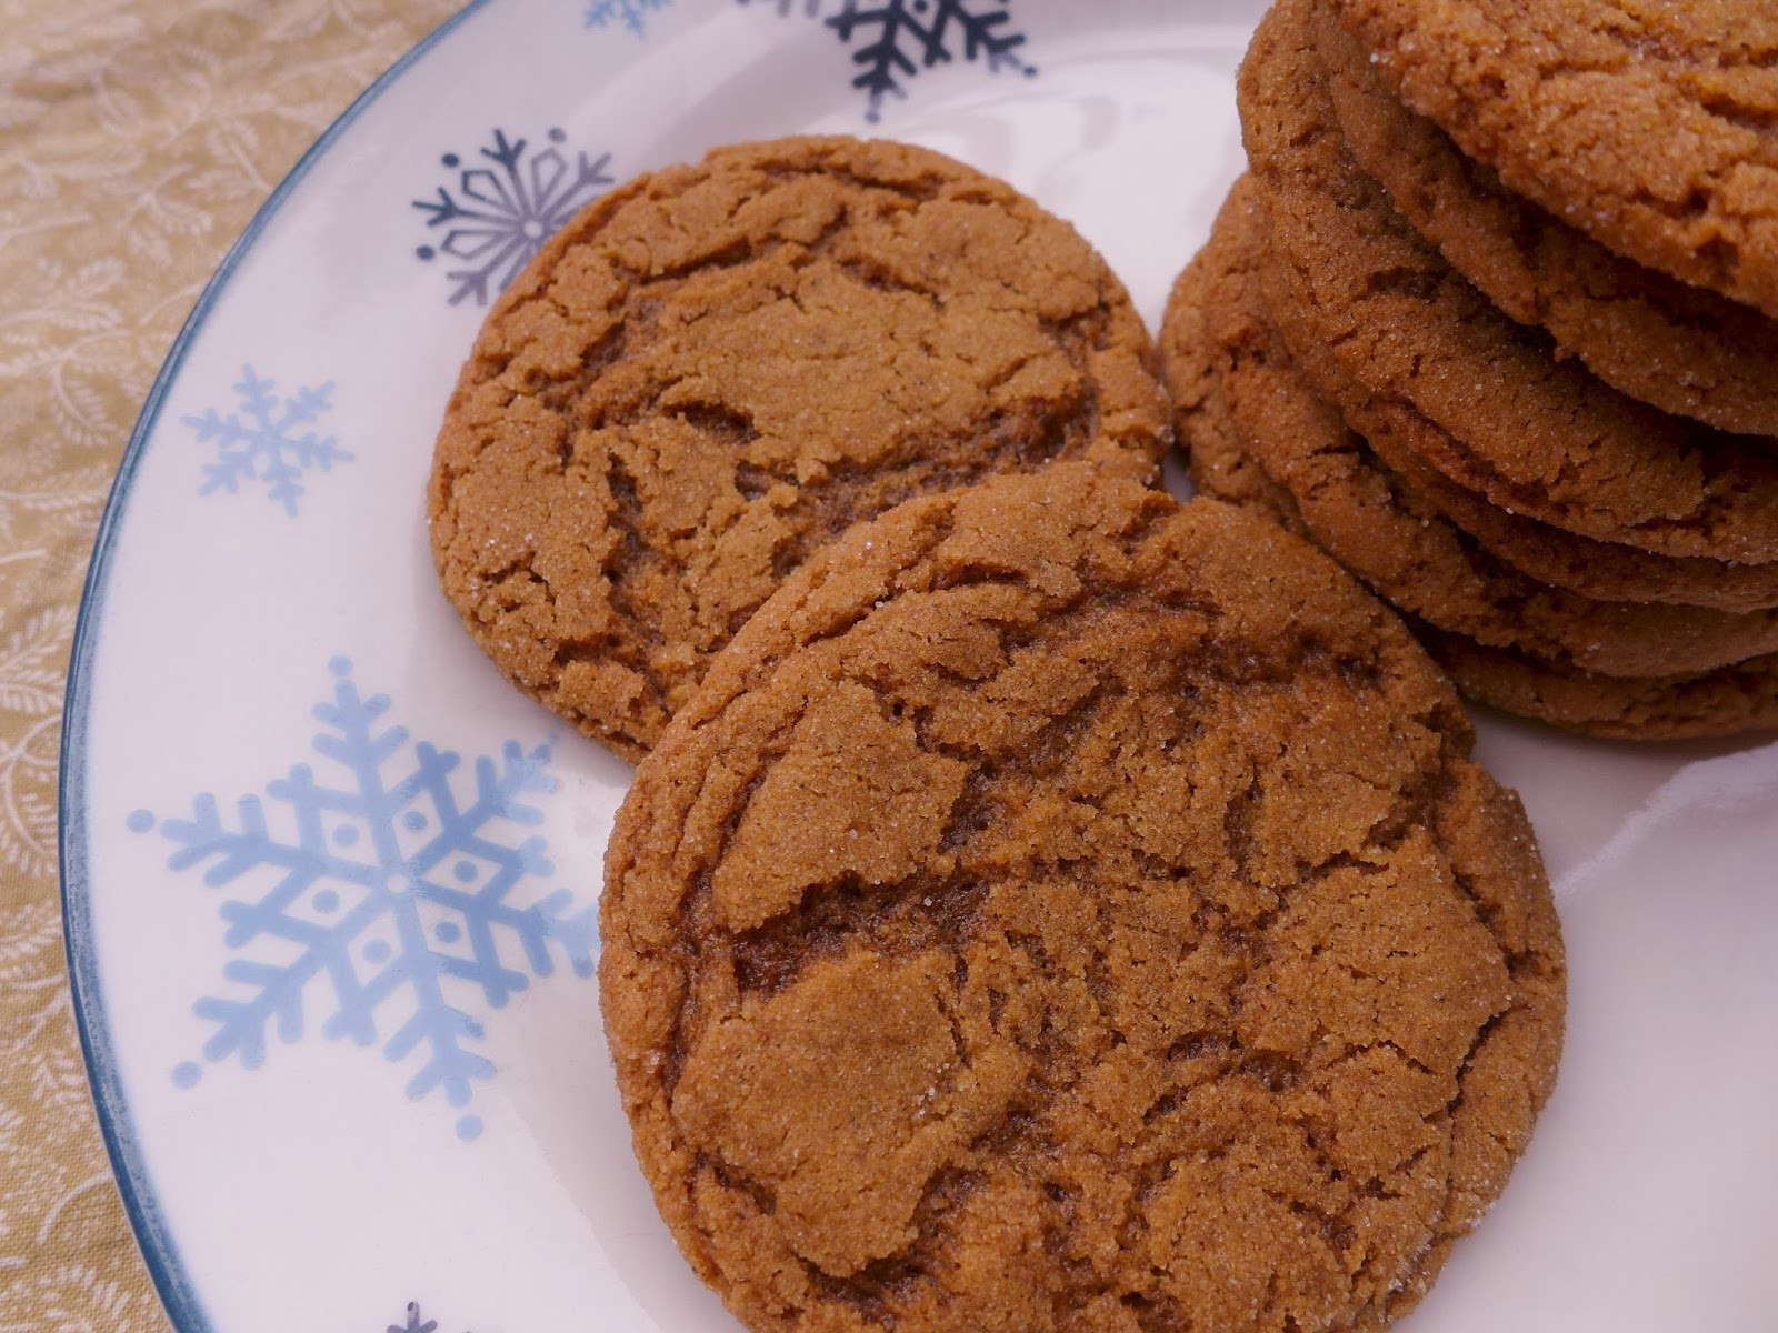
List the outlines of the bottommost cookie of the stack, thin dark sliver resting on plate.
{"type": "Polygon", "coordinates": [[[1778,729],[1778,654],[1702,675],[1634,679],[1565,668],[1422,627],[1421,642],[1470,698],[1590,736],[1680,741],[1778,729]]]}

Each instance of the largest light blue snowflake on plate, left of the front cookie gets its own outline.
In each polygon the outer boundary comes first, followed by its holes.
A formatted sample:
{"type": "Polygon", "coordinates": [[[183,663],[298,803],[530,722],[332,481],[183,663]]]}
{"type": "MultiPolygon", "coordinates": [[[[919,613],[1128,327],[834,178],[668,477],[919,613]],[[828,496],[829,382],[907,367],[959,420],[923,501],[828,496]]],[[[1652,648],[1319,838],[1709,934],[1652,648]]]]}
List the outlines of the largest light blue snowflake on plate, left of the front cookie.
{"type": "MultiPolygon", "coordinates": [[[[411,1098],[439,1091],[468,1107],[473,1084],[494,1075],[471,1049],[484,1034],[477,1011],[549,976],[557,954],[592,976],[596,908],[576,908],[567,889],[533,890],[528,903],[519,892],[553,873],[544,839],[519,832],[542,823],[526,798],[555,791],[549,750],[507,741],[498,762],[475,761],[473,782],[453,780],[457,754],[409,745],[405,727],[386,725],[388,695],[361,697],[345,658],[329,670],[315,752],[340,786],[299,762],[267,784],[276,819],[267,802],[242,796],[231,826],[201,793],[190,819],[158,821],[176,846],[171,869],[203,866],[204,883],[244,890],[220,906],[238,951],[222,969],[233,994],[192,1006],[213,1024],[203,1058],[258,1068],[274,1033],[299,1042],[329,1008],[324,1036],[380,1042],[389,1061],[418,1063],[411,1098]]],[[[148,832],[156,818],[135,810],[128,826],[148,832]]],[[[181,1088],[199,1077],[196,1061],[172,1072],[181,1088]]],[[[480,1132],[480,1116],[457,1120],[461,1139],[480,1132]]]]}

